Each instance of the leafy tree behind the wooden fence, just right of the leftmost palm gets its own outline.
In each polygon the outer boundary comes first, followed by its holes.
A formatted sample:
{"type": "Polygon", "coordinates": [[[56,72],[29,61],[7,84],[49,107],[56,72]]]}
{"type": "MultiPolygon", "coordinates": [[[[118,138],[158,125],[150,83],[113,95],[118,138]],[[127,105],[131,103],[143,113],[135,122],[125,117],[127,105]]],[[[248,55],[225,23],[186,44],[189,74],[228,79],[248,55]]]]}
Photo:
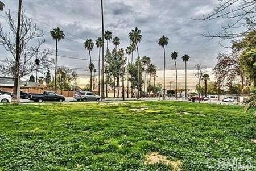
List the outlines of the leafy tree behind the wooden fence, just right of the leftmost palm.
{"type": "Polygon", "coordinates": [[[56,80],[60,90],[69,90],[77,78],[77,73],[72,69],[61,67],[57,70],[56,80]]]}

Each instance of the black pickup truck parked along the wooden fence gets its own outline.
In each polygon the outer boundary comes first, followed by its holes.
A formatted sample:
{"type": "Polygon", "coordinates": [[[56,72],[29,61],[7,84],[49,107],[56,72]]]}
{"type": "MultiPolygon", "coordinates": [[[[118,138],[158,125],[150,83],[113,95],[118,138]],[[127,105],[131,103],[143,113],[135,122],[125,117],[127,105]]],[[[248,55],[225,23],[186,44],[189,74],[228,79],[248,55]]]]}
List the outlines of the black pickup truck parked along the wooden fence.
{"type": "Polygon", "coordinates": [[[44,101],[65,101],[65,97],[63,95],[59,95],[51,91],[44,91],[43,94],[30,94],[30,97],[28,97],[28,99],[39,103],[42,103],[44,101]]]}

